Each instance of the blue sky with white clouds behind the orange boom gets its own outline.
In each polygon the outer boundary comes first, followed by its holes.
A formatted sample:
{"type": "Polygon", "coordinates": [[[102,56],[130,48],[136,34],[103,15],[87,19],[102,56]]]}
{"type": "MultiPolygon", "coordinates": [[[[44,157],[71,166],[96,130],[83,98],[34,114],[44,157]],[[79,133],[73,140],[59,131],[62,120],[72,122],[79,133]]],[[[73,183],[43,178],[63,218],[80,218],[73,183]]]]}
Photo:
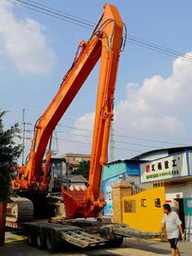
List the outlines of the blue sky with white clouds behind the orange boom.
{"type": "MultiPolygon", "coordinates": [[[[57,93],[79,42],[88,40],[92,30],[10,2],[0,0],[0,108],[9,111],[5,128],[21,124],[25,108],[27,155],[35,121],[57,93]]],[[[100,0],[36,2],[94,24],[105,4],[100,0]]],[[[129,36],[192,56],[191,1],[108,2],[119,9],[129,36]]],[[[56,128],[57,155],[91,153],[98,67],[56,128]]],[[[191,74],[190,62],[127,41],[118,68],[109,160],[191,145],[191,74]]]]}

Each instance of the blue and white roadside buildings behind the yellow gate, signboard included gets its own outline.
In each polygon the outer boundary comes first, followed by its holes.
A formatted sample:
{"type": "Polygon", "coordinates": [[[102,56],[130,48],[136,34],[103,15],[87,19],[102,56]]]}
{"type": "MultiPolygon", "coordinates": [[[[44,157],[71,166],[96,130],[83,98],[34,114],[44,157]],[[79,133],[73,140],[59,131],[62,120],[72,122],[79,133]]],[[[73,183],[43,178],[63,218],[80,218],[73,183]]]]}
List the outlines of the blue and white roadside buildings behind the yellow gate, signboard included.
{"type": "Polygon", "coordinates": [[[166,203],[178,211],[192,241],[192,146],[153,150],[108,163],[102,174],[104,216],[113,216],[112,185],[119,179],[143,189],[165,186],[166,203]]]}

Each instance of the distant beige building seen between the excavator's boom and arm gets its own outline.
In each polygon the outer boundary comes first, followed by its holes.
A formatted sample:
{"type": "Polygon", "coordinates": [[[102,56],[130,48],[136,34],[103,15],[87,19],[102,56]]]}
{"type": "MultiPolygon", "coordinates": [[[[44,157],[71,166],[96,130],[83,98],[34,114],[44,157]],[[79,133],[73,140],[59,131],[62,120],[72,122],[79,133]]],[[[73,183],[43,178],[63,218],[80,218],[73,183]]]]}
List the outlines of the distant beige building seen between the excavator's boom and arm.
{"type": "Polygon", "coordinates": [[[90,161],[91,155],[67,153],[61,155],[61,158],[65,158],[68,169],[67,172],[68,174],[71,174],[79,168],[81,161],[90,161]]]}

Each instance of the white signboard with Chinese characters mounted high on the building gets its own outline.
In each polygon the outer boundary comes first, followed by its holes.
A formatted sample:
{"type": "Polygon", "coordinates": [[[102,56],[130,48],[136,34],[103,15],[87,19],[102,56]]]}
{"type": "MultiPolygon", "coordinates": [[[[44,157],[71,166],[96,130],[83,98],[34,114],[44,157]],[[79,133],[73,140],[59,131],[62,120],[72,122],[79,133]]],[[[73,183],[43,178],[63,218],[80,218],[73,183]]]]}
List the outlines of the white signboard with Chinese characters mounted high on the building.
{"type": "Polygon", "coordinates": [[[170,155],[140,165],[141,183],[188,175],[187,153],[170,155]]]}

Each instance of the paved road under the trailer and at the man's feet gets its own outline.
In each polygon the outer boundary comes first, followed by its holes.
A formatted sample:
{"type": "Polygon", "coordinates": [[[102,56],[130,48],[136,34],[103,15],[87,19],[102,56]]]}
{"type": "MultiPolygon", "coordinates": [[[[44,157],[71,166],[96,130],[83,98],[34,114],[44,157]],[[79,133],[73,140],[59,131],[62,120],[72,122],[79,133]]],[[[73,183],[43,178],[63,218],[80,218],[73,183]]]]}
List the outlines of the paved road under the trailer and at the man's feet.
{"type": "MultiPolygon", "coordinates": [[[[191,256],[192,243],[180,243],[182,256],[191,256]]],[[[52,253],[40,250],[36,247],[28,246],[22,236],[12,236],[7,234],[7,244],[0,247],[0,256],[50,256],[52,253]]],[[[54,256],[155,256],[170,255],[167,243],[155,241],[141,241],[127,239],[122,247],[118,248],[96,248],[96,249],[77,249],[74,247],[62,247],[60,253],[54,256]]]]}

